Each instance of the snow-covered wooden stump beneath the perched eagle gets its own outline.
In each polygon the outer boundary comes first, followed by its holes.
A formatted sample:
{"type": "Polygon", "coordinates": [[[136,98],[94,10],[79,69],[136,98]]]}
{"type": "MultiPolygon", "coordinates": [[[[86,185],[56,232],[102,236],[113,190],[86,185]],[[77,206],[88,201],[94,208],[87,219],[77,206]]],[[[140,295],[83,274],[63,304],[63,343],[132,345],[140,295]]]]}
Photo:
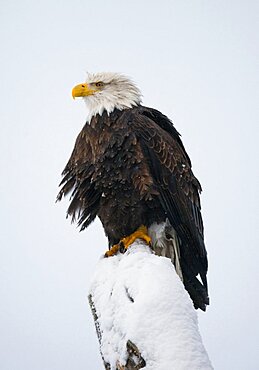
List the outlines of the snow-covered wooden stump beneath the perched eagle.
{"type": "Polygon", "coordinates": [[[142,241],[98,262],[89,302],[105,369],[213,369],[174,265],[142,241]]]}

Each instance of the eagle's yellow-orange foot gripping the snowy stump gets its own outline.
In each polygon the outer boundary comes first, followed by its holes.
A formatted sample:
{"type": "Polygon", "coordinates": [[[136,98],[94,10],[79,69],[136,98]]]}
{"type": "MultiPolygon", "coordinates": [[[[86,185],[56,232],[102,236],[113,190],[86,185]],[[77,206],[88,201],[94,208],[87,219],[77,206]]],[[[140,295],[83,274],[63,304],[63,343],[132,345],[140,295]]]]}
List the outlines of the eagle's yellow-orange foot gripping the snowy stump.
{"type": "Polygon", "coordinates": [[[135,242],[136,239],[144,240],[147,245],[151,245],[151,238],[147,233],[147,227],[141,225],[134,233],[130,234],[129,236],[125,236],[122,238],[118,244],[114,244],[109,251],[105,253],[105,257],[114,256],[119,250],[125,251],[127,250],[131,244],[135,242]]]}

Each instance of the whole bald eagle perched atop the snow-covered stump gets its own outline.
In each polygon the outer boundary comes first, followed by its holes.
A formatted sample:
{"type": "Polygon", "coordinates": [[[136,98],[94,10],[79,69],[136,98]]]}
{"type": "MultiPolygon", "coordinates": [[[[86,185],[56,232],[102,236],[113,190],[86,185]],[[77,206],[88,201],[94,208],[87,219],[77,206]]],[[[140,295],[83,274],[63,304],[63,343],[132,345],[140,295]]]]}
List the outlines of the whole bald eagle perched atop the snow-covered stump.
{"type": "Polygon", "coordinates": [[[137,86],[118,73],[88,74],[75,86],[89,115],[62,173],[57,199],[81,230],[102,222],[112,255],[136,239],[171,258],[193,300],[209,304],[207,253],[199,193],[180,134],[159,111],[141,105],[137,86]]]}

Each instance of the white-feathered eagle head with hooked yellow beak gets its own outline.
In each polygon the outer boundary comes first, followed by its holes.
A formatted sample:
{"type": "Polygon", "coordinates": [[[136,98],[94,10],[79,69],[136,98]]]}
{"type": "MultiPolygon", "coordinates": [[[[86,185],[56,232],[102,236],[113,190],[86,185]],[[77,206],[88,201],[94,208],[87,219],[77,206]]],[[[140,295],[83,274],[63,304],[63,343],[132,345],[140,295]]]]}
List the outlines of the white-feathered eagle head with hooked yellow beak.
{"type": "Polygon", "coordinates": [[[122,110],[141,103],[141,93],[133,81],[119,73],[88,73],[86,82],[76,85],[73,98],[82,97],[89,109],[89,120],[104,111],[122,110]]]}

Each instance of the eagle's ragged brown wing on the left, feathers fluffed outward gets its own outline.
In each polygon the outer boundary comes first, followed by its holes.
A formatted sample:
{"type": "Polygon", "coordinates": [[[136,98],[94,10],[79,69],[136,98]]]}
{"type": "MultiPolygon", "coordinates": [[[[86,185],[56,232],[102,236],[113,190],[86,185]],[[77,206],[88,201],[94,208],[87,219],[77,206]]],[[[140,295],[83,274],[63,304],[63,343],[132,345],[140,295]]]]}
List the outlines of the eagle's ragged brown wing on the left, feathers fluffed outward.
{"type": "Polygon", "coordinates": [[[62,172],[62,188],[57,196],[59,201],[63,196],[71,195],[67,215],[72,216],[72,221],[78,220],[78,224],[82,224],[81,229],[95,219],[101,198],[91,182],[94,165],[88,129],[89,126],[85,125],[76,139],[71,157],[62,172]]]}

